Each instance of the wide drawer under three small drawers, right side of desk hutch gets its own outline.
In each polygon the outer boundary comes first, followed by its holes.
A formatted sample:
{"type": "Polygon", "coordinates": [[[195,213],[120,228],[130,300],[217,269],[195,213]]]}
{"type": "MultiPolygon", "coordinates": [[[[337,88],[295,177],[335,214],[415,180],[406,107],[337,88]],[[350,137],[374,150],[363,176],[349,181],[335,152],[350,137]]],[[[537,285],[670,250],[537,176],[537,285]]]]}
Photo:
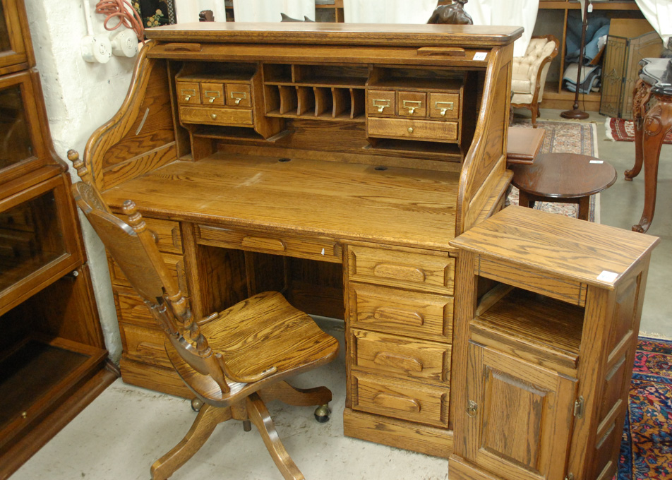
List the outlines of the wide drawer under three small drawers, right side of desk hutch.
{"type": "Polygon", "coordinates": [[[457,141],[457,122],[371,117],[368,119],[368,135],[452,143],[457,141]]]}

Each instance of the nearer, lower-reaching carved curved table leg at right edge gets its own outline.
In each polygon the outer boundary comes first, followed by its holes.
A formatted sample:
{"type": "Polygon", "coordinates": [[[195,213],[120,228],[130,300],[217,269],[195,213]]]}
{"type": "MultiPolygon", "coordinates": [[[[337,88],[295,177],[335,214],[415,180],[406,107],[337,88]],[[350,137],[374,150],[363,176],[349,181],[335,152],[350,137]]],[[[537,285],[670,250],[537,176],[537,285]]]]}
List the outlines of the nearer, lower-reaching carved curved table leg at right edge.
{"type": "Polygon", "coordinates": [[[642,128],[642,152],[644,161],[644,212],[636,225],[635,232],[646,232],[651,226],[656,210],[656,190],[658,184],[658,162],[661,145],[672,128],[672,96],[655,95],[656,103],[644,116],[642,128]]]}

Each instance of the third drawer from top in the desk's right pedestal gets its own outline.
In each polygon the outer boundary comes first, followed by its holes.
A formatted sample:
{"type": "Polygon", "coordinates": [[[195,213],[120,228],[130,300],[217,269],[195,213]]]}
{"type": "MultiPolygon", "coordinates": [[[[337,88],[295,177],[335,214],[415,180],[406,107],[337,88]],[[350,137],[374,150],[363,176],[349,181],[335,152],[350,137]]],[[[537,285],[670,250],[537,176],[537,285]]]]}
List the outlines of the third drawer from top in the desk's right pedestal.
{"type": "Polygon", "coordinates": [[[350,345],[353,366],[376,375],[450,381],[450,345],[355,329],[350,345]]]}

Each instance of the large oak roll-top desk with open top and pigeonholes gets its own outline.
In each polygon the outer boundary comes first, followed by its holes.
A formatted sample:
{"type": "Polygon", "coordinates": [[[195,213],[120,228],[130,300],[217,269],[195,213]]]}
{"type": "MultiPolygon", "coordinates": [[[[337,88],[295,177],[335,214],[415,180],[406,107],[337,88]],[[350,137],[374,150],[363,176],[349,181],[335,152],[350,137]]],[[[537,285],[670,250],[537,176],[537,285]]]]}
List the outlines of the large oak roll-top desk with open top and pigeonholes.
{"type": "MultiPolygon", "coordinates": [[[[147,30],[85,162],[132,199],[196,316],[255,292],[344,318],[349,436],[448,457],[455,248],[503,205],[520,28],[147,30]]],[[[110,265],[128,383],[188,397],[110,265]]]]}

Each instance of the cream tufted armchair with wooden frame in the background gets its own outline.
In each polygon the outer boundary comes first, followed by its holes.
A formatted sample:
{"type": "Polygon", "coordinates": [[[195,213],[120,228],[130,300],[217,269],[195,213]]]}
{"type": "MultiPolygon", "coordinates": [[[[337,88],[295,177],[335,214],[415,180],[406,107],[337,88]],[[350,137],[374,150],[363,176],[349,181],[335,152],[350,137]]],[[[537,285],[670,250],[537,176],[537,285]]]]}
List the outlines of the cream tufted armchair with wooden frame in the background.
{"type": "Polygon", "coordinates": [[[558,55],[559,44],[553,35],[532,37],[525,56],[513,57],[511,107],[530,109],[534,128],[539,116],[539,103],[544,95],[546,73],[551,60],[558,55]]]}

